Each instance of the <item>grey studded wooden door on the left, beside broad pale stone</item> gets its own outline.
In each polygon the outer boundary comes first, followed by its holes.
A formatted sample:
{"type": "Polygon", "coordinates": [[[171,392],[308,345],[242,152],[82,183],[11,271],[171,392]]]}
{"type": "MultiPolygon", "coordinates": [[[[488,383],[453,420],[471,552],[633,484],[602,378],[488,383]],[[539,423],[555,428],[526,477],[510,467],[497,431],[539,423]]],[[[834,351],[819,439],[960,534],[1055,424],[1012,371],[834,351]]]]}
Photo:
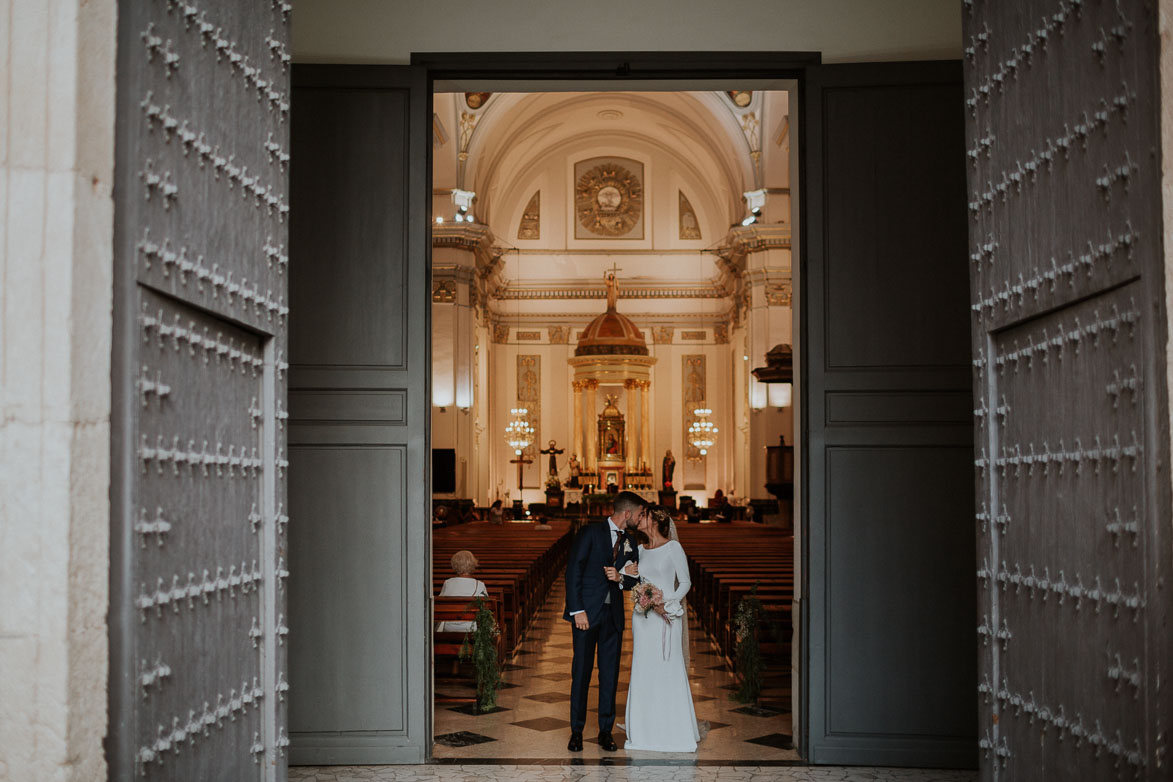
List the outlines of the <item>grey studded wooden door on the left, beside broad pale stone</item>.
{"type": "Polygon", "coordinates": [[[110,778],[284,778],[287,2],[118,7],[110,778]]]}

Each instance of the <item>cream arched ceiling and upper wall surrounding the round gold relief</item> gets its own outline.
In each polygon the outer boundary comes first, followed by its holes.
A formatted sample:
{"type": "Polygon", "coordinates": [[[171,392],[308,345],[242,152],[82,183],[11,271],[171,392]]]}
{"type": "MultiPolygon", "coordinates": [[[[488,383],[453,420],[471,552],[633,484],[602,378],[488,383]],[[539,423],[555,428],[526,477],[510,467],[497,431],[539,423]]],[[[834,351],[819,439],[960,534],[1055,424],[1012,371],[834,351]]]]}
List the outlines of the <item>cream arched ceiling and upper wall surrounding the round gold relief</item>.
{"type": "Polygon", "coordinates": [[[547,312],[558,300],[563,313],[592,312],[597,301],[582,293],[601,288],[603,271],[616,263],[622,290],[640,299],[624,306],[638,312],[678,312],[705,300],[710,310],[727,308],[728,270],[712,250],[746,216],[744,192],[789,185],[788,165],[778,165],[789,157],[787,93],[739,95],[438,94],[434,212],[450,220],[452,190],[476,193],[473,215],[501,257],[487,292],[510,310],[547,312]],[[576,236],[574,170],[595,157],[643,166],[639,239],[576,236]],[[678,191],[694,210],[699,239],[678,231],[678,191]],[[520,220],[538,192],[541,237],[522,239],[520,220]]]}

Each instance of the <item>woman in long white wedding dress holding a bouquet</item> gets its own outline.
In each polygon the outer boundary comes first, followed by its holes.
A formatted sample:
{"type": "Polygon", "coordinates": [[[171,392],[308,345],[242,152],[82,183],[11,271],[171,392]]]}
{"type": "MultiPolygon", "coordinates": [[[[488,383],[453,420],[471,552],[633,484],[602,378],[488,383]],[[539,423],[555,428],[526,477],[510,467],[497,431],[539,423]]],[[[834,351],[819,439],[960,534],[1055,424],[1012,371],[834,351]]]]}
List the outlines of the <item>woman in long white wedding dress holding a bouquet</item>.
{"type": "Polygon", "coordinates": [[[628,742],[624,749],[691,753],[700,732],[689,688],[689,619],[682,600],[692,585],[689,562],[667,510],[652,506],[639,523],[639,579],[664,593],[664,605],[631,617],[631,682],[628,685],[628,742]]]}

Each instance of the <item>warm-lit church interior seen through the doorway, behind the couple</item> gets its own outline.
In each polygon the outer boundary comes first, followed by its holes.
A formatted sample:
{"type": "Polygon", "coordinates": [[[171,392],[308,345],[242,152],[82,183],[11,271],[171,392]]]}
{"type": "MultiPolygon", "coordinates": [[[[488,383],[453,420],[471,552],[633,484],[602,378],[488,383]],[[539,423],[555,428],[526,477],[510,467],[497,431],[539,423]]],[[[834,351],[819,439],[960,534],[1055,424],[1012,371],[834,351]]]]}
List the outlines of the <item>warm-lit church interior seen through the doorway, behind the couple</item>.
{"type": "Polygon", "coordinates": [[[436,632],[436,759],[565,754],[563,571],[621,490],[671,509],[690,557],[698,757],[798,757],[794,108],[788,89],[435,94],[435,618],[469,619],[441,591],[472,551],[503,675],[483,712],[463,632],[436,632]],[[747,597],[769,630],[765,686],[739,699],[747,597]]]}

